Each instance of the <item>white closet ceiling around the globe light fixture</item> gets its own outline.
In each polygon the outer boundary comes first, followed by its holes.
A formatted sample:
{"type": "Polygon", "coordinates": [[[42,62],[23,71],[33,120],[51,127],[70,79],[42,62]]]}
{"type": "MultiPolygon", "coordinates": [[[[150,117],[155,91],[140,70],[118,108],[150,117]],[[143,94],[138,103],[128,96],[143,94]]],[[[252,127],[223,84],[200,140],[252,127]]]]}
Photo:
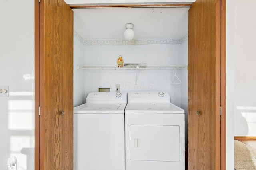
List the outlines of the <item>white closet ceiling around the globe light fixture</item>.
{"type": "Polygon", "coordinates": [[[134,39],[181,39],[188,34],[188,7],[73,9],[74,30],[83,39],[124,39],[126,23],[134,39]]]}

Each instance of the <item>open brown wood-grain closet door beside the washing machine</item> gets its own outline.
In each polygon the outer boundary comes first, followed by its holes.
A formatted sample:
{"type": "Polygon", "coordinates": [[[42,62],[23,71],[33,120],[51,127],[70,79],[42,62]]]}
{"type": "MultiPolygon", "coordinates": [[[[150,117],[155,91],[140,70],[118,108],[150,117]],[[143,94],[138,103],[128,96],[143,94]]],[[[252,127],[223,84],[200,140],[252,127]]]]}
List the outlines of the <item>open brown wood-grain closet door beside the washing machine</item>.
{"type": "Polygon", "coordinates": [[[40,170],[72,170],[73,11],[64,0],[40,2],[40,106],[40,170]]]}

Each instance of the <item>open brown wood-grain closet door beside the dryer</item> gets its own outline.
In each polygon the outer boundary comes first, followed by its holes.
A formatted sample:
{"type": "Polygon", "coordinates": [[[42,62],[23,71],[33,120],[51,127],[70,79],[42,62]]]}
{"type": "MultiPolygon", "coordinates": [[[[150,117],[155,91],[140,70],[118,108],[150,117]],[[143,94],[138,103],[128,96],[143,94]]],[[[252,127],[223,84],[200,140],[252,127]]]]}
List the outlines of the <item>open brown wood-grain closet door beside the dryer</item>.
{"type": "Polygon", "coordinates": [[[220,169],[220,0],[197,0],[188,17],[188,169],[216,170],[220,169]]]}

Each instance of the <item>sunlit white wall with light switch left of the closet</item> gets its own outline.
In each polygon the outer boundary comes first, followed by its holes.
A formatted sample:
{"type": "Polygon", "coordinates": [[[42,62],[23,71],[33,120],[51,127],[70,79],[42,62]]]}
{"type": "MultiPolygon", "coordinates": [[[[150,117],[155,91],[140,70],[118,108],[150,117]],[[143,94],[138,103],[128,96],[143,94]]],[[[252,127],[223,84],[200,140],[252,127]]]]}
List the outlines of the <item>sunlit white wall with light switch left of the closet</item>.
{"type": "Polygon", "coordinates": [[[10,88],[9,97],[0,96],[0,169],[7,170],[8,158],[16,156],[18,170],[32,170],[34,0],[1,1],[0,23],[0,86],[10,88]]]}

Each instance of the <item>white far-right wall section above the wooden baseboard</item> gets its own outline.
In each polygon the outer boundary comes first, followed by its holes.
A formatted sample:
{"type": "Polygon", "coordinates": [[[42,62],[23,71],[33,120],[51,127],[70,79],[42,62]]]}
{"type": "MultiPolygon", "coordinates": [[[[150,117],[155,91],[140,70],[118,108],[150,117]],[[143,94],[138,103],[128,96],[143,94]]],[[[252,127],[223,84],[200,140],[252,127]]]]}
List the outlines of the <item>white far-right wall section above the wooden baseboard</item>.
{"type": "Polygon", "coordinates": [[[234,135],[256,136],[256,1],[235,5],[234,135]]]}

